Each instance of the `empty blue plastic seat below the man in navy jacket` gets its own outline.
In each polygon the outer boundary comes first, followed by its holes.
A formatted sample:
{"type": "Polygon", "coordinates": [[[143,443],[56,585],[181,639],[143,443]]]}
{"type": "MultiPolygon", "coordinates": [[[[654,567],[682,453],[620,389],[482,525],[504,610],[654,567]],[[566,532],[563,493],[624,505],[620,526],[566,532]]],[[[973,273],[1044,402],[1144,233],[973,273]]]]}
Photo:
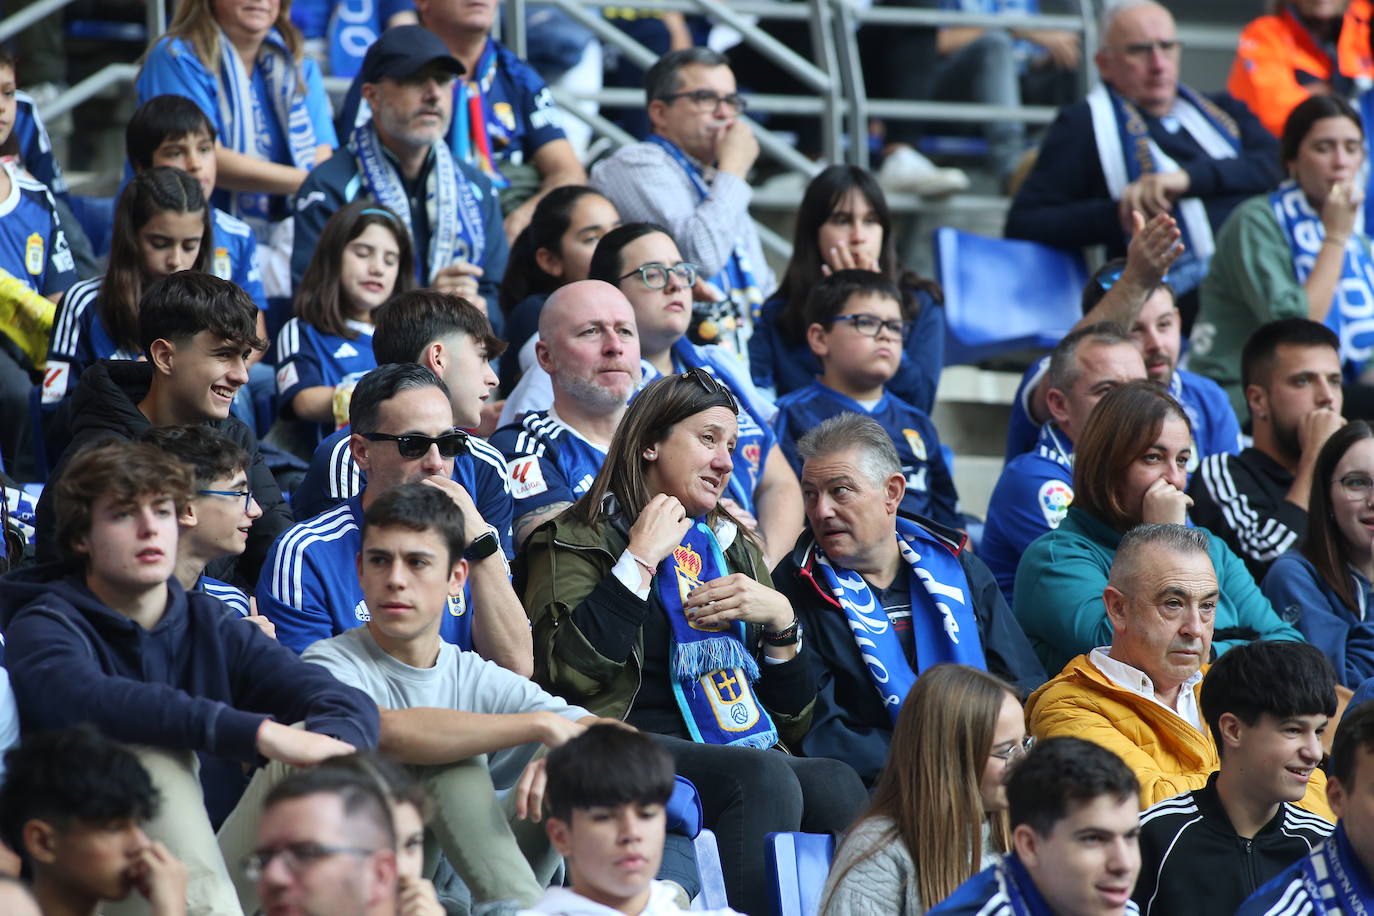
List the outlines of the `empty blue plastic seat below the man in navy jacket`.
{"type": "Polygon", "coordinates": [[[945,365],[1050,349],[1083,316],[1083,255],[1036,242],[936,229],[945,294],[945,365]]]}

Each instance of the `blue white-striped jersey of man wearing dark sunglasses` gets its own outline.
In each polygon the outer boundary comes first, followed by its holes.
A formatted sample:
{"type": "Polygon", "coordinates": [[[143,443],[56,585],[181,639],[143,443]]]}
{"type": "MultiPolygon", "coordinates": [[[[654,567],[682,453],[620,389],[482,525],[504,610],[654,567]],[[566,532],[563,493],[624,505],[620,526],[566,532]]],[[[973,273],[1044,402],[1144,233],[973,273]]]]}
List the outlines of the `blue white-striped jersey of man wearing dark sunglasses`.
{"type": "MultiPolygon", "coordinates": [[[[313,643],[365,623],[371,617],[357,581],[363,549],[363,497],[297,522],[272,544],[257,584],[258,610],[276,626],[276,640],[297,654],[313,643]]],[[[473,648],[471,595],[449,596],[441,639],[473,648]]]]}

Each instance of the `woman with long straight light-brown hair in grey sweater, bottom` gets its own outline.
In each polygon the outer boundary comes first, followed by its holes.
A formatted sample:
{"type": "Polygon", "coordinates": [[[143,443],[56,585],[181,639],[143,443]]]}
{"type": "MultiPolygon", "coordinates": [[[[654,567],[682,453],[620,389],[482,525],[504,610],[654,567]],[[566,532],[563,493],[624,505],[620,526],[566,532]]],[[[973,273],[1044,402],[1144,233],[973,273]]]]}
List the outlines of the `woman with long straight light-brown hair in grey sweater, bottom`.
{"type": "Polygon", "coordinates": [[[921,916],[1009,851],[1006,777],[1028,747],[1011,687],[966,665],[926,669],[835,854],[822,916],[921,916]]]}

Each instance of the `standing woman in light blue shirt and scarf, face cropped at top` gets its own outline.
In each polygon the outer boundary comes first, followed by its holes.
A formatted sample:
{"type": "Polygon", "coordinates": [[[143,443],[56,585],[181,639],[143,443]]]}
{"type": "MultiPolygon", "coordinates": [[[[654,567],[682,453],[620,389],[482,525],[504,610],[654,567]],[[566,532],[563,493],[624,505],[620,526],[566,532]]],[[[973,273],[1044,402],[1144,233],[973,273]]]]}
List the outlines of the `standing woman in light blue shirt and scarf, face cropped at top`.
{"type": "Polygon", "coordinates": [[[290,216],[286,196],[338,146],[291,0],[180,0],[135,85],[139,104],[180,95],[201,107],[218,132],[214,203],[254,225],[260,242],[268,221],[290,216]]]}

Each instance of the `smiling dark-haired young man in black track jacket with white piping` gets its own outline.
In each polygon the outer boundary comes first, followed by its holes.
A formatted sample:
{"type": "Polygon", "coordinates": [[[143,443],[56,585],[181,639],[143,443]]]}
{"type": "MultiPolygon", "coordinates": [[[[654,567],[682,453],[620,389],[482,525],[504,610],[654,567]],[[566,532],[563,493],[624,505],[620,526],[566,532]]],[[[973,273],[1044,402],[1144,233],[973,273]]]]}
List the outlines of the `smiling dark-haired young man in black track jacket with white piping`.
{"type": "Polygon", "coordinates": [[[1320,650],[1237,645],[1208,672],[1201,699],[1221,769],[1140,814],[1142,916],[1232,913],[1333,829],[1294,805],[1336,714],[1336,674],[1320,650]]]}

